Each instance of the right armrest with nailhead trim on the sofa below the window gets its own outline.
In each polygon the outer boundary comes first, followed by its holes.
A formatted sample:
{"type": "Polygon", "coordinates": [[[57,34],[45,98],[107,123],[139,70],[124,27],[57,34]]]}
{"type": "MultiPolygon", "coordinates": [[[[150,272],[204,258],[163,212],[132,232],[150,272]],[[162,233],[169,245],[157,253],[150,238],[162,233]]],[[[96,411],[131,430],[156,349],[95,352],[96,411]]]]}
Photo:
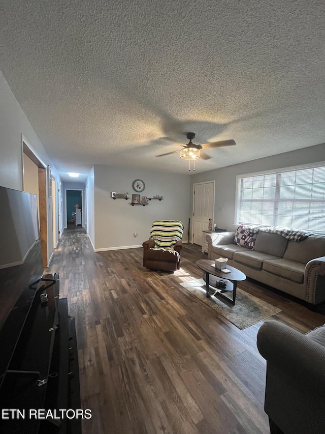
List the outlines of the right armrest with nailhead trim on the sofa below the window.
{"type": "Polygon", "coordinates": [[[306,301],[318,304],[325,300],[325,256],[309,261],[305,268],[306,301]]]}

